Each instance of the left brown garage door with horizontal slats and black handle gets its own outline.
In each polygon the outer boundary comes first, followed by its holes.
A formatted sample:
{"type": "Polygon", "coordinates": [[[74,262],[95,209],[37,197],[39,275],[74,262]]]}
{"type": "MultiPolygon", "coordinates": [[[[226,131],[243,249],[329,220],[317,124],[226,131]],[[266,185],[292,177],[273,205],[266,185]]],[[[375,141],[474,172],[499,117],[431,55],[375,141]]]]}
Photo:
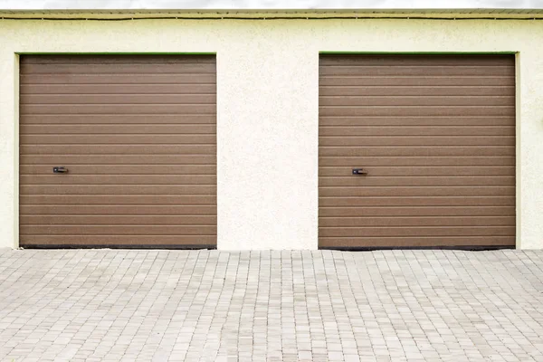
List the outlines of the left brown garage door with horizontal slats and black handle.
{"type": "Polygon", "coordinates": [[[214,56],[22,56],[21,246],[214,247],[215,78],[214,56]]]}

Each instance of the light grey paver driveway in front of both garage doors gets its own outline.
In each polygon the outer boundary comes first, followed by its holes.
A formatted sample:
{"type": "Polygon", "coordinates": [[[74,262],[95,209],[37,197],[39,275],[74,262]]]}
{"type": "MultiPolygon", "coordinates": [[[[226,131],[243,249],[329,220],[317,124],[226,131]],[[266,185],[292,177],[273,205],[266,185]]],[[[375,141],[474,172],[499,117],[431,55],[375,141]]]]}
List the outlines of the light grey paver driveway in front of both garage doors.
{"type": "Polygon", "coordinates": [[[7,361],[543,361],[543,252],[0,251],[7,361]]]}

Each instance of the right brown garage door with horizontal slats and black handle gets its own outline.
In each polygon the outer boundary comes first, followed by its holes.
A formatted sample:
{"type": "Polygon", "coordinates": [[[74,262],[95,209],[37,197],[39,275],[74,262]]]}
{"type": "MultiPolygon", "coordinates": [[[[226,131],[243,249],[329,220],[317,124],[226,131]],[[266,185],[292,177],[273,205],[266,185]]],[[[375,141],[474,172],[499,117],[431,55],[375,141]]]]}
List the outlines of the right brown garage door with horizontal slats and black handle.
{"type": "Polygon", "coordinates": [[[320,57],[320,247],[514,245],[513,56],[320,57]]]}

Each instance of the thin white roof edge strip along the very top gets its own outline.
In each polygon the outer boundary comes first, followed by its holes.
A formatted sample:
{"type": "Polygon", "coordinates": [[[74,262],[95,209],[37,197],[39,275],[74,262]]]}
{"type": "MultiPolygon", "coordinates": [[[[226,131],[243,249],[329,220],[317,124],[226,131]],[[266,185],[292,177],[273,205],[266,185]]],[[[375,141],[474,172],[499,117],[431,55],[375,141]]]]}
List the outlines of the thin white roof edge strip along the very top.
{"type": "Polygon", "coordinates": [[[0,0],[0,11],[404,11],[543,9],[543,0],[0,0]]]}

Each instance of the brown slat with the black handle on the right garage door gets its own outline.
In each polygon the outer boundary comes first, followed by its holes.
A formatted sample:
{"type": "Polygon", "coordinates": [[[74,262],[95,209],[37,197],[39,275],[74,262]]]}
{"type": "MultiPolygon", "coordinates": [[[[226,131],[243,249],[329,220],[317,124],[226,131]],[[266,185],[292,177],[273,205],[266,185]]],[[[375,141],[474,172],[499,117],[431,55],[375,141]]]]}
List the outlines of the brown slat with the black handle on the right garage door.
{"type": "MultiPolygon", "coordinates": [[[[367,163],[363,163],[367,165],[367,163]]],[[[360,167],[362,168],[362,167],[360,167]]],[[[510,176],[514,167],[502,166],[374,166],[371,167],[372,176],[510,176]]],[[[345,176],[351,177],[348,167],[319,167],[319,176],[345,176]]],[[[351,177],[352,178],[352,177],[351,177]]]]}

